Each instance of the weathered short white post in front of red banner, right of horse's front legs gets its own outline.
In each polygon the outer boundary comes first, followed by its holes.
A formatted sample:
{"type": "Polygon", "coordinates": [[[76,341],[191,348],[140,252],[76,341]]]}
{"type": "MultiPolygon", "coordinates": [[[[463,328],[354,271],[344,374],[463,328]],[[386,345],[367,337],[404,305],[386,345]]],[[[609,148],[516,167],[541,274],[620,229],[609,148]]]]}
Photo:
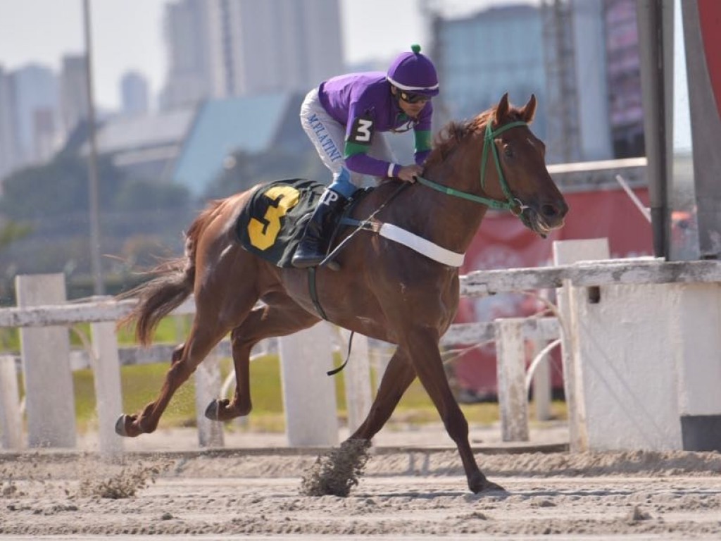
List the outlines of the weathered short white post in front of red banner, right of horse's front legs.
{"type": "Polygon", "coordinates": [[[503,441],[528,441],[523,318],[495,320],[498,405],[503,441]]]}

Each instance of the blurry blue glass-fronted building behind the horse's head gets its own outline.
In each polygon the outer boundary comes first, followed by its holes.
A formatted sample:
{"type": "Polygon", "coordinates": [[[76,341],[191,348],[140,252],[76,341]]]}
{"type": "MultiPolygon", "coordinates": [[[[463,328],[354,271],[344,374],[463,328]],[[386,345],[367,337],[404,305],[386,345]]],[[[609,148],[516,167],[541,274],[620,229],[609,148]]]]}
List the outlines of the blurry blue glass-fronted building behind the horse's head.
{"type": "Polygon", "coordinates": [[[603,8],[603,0],[545,0],[438,19],[439,101],[460,119],[505,92],[516,105],[533,93],[533,130],[547,144],[549,163],[614,157],[603,8]]]}

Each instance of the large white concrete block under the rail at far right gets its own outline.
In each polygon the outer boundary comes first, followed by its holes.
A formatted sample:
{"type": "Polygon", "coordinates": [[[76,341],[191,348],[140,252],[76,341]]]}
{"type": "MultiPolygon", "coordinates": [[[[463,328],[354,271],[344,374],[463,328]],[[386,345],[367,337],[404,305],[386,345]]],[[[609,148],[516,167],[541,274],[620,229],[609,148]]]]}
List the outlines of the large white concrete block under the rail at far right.
{"type": "MultiPolygon", "coordinates": [[[[601,250],[558,248],[566,260],[601,250]]],[[[572,449],[721,451],[721,263],[592,265],[562,297],[572,449]]]]}

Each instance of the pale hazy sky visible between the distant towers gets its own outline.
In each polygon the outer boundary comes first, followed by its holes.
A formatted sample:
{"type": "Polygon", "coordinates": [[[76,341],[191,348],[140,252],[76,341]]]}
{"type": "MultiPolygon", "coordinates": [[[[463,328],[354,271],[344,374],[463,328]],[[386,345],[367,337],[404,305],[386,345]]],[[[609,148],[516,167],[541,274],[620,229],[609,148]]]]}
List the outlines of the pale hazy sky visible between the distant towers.
{"type": "MultiPolygon", "coordinates": [[[[90,1],[93,87],[99,107],[119,106],[120,78],[127,71],[146,76],[154,95],[161,89],[166,65],[162,15],[168,1],[90,1]]],[[[339,1],[347,64],[390,58],[411,43],[423,45],[427,38],[419,0],[339,1]]],[[[437,5],[444,14],[461,15],[518,1],[428,0],[426,4],[437,5]]],[[[83,0],[0,0],[0,67],[12,70],[40,63],[59,71],[64,55],[85,50],[82,6],[83,0]]]]}

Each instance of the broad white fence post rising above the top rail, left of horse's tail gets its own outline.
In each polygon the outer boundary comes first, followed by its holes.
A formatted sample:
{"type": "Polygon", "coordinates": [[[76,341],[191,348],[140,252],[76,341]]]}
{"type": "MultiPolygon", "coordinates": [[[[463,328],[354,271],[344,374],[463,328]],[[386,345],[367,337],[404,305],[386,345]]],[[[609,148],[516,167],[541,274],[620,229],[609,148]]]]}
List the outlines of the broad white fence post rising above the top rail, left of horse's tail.
{"type": "MultiPolygon", "coordinates": [[[[62,274],[16,276],[18,307],[66,302],[62,274]]],[[[65,327],[20,329],[29,447],[75,447],[75,397],[65,327]]]]}

